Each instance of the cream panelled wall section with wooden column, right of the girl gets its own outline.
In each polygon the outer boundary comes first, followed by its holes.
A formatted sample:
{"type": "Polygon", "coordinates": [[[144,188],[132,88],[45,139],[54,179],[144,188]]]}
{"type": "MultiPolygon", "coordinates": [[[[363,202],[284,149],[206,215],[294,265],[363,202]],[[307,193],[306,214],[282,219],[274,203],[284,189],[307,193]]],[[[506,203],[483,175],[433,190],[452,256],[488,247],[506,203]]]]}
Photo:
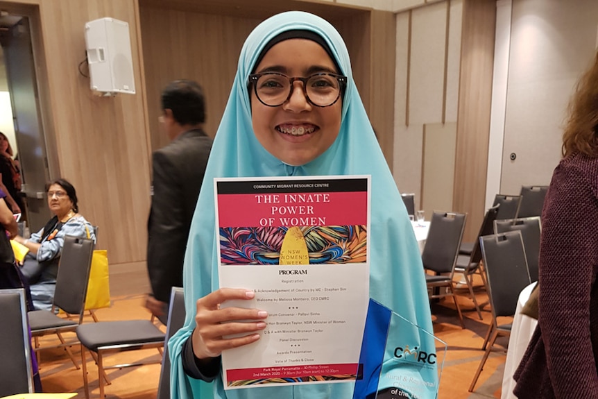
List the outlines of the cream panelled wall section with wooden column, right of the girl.
{"type": "Polygon", "coordinates": [[[486,0],[427,3],[397,15],[395,181],[416,193],[427,214],[467,212],[465,240],[485,211],[495,17],[496,2],[486,0]],[[438,139],[425,140],[426,131],[438,139]]]}

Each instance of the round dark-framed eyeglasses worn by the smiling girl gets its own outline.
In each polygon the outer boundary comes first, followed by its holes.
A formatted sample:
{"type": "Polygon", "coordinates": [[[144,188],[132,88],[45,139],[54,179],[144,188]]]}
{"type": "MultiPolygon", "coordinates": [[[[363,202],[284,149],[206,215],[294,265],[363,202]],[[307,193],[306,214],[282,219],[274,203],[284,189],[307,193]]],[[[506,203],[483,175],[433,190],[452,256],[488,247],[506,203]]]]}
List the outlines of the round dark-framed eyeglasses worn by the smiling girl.
{"type": "Polygon", "coordinates": [[[268,107],[277,107],[289,101],[293,94],[293,82],[303,83],[303,94],[316,107],[330,107],[341,96],[341,89],[347,84],[343,75],[320,73],[307,78],[291,78],[277,72],[249,75],[249,83],[257,99],[268,107]]]}

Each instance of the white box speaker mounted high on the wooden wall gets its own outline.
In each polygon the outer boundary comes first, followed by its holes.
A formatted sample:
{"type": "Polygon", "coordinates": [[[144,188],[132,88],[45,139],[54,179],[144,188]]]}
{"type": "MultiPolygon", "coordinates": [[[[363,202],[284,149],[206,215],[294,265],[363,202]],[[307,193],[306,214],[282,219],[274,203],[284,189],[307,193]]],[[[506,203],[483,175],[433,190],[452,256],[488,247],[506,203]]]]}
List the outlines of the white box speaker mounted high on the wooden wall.
{"type": "Polygon", "coordinates": [[[104,94],[135,94],[129,24],[106,17],[85,24],[89,87],[104,94]]]}

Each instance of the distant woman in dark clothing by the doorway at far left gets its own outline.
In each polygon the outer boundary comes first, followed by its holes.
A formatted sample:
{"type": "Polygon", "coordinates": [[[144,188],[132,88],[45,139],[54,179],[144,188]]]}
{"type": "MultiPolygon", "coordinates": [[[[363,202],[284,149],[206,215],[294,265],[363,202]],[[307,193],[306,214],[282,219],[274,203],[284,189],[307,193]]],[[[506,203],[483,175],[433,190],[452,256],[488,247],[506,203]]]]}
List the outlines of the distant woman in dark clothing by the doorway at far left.
{"type": "MultiPolygon", "coordinates": [[[[6,203],[12,213],[24,211],[21,192],[21,172],[19,164],[12,156],[12,147],[8,137],[0,132],[0,189],[6,193],[6,203]]],[[[24,216],[24,215],[23,215],[24,216]]]]}

